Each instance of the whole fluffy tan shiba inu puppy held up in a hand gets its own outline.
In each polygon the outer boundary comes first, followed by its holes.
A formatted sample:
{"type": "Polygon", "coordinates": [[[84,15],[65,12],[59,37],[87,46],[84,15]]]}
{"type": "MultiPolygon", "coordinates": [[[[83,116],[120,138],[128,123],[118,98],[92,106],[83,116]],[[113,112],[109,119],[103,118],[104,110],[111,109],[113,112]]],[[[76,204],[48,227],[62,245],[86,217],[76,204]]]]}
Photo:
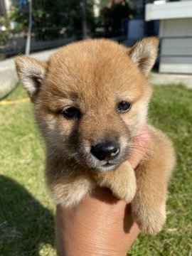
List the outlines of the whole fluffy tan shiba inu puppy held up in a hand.
{"type": "Polygon", "coordinates": [[[16,58],[46,142],[46,178],[55,203],[73,206],[95,186],[132,204],[144,233],[166,220],[167,183],[174,167],[169,139],[148,126],[151,146],[134,171],[127,161],[146,122],[151,86],[146,81],[156,38],[132,48],[104,39],[72,43],[47,63],[16,58]]]}

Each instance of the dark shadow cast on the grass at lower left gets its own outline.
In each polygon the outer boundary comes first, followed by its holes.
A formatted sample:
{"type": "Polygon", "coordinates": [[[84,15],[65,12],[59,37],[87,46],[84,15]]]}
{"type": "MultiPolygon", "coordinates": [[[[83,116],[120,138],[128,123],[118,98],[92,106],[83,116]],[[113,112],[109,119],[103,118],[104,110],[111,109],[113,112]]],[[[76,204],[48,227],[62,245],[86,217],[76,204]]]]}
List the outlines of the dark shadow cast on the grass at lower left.
{"type": "Polygon", "coordinates": [[[0,175],[0,255],[38,256],[41,243],[54,246],[53,215],[26,188],[0,175]]]}

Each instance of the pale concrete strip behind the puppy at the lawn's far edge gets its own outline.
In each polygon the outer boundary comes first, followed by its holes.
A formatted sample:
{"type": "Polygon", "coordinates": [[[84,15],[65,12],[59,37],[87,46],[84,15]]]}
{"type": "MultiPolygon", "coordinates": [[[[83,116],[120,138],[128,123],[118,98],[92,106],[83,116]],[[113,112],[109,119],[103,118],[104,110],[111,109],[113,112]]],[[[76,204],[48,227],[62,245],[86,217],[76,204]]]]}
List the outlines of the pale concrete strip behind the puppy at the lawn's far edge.
{"type": "MultiPolygon", "coordinates": [[[[30,56],[38,60],[47,60],[50,55],[55,53],[59,48],[52,50],[44,50],[38,53],[33,53],[30,56]]],[[[9,58],[0,61],[0,92],[9,90],[18,80],[14,65],[14,58],[9,58]]],[[[149,82],[154,85],[167,85],[167,84],[183,84],[192,89],[192,75],[175,75],[175,74],[162,74],[151,73],[149,82]]]]}

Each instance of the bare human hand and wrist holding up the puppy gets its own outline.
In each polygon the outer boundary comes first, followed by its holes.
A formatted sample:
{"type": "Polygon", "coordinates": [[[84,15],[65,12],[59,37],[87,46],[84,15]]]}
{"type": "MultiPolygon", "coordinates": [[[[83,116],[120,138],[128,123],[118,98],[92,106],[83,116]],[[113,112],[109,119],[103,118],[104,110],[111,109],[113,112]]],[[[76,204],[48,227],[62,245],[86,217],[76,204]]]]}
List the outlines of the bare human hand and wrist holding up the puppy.
{"type": "MultiPolygon", "coordinates": [[[[146,125],[134,138],[129,162],[135,169],[150,144],[146,125]]],[[[107,188],[96,188],[78,206],[57,206],[55,238],[61,256],[122,256],[139,234],[130,205],[112,196],[107,188]]]]}

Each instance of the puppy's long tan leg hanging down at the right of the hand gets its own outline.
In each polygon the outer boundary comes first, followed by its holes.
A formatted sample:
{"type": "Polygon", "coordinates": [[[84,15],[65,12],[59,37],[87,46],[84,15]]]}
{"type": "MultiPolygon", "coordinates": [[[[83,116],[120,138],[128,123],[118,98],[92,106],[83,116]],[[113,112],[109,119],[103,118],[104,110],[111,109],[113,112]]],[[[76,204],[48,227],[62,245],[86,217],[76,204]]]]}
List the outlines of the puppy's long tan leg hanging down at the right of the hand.
{"type": "Polygon", "coordinates": [[[144,233],[156,234],[166,221],[166,197],[169,176],[174,167],[174,149],[169,139],[149,129],[149,155],[135,171],[137,193],[132,201],[132,213],[144,233]]]}

